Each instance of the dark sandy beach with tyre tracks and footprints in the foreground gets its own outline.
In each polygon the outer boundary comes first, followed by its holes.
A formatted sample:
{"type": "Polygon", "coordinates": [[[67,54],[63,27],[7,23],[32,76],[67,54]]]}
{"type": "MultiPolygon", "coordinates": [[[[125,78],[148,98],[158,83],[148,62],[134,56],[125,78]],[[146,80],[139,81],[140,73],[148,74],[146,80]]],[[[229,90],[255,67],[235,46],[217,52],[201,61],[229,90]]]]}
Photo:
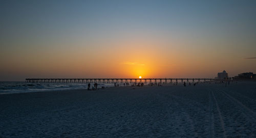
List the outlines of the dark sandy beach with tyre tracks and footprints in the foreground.
{"type": "Polygon", "coordinates": [[[256,82],[0,95],[0,137],[255,137],[256,82]]]}

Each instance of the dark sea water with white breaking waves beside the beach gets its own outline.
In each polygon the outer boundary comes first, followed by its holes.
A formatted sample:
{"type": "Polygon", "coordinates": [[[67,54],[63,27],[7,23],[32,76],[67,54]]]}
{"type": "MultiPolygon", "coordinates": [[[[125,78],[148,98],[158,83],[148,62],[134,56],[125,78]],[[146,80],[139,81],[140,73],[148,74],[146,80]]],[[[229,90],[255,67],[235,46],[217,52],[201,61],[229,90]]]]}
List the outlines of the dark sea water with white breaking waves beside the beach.
{"type": "MultiPolygon", "coordinates": [[[[91,83],[91,87],[94,83],[91,83]]],[[[0,81],[0,94],[43,92],[87,89],[88,84],[81,83],[31,83],[24,81],[0,81]]],[[[98,84],[100,87],[113,87],[113,84],[98,84]]]]}

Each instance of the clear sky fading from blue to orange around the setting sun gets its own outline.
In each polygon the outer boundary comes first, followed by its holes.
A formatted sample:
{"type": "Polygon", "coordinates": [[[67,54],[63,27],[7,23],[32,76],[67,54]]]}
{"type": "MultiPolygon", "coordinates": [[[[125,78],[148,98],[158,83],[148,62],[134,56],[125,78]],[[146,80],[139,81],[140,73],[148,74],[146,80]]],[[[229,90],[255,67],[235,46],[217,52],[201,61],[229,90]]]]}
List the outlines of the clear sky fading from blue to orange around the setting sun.
{"type": "Polygon", "coordinates": [[[0,3],[0,81],[256,73],[256,1],[0,3]]]}

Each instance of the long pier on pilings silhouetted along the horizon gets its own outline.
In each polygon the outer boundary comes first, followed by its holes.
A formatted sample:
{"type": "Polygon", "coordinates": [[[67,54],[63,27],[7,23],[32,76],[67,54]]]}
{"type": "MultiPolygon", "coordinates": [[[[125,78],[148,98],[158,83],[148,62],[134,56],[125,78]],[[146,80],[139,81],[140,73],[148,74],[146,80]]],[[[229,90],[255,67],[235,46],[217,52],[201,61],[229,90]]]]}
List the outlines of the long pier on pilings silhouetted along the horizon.
{"type": "Polygon", "coordinates": [[[74,82],[74,83],[89,83],[89,82],[103,82],[106,84],[110,83],[132,83],[132,82],[150,82],[156,83],[156,82],[165,82],[165,83],[172,83],[173,81],[178,82],[180,80],[183,81],[189,81],[192,80],[195,81],[212,81],[215,79],[212,78],[26,78],[26,82],[74,82]]]}

